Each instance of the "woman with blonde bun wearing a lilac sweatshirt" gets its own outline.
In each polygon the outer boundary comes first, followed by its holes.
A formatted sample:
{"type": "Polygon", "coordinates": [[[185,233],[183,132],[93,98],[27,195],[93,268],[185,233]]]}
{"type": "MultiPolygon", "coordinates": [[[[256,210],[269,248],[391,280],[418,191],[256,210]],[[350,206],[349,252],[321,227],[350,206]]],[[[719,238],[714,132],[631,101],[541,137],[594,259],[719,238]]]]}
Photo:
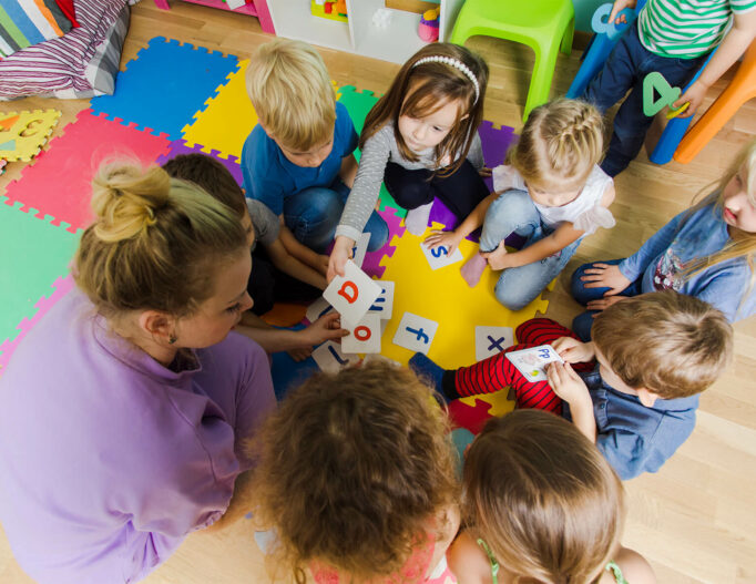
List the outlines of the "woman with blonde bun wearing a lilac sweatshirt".
{"type": "Polygon", "coordinates": [[[238,216],[159,167],[104,165],[76,287],[3,371],[0,520],[38,582],[136,582],[227,511],[275,398],[238,216]]]}

